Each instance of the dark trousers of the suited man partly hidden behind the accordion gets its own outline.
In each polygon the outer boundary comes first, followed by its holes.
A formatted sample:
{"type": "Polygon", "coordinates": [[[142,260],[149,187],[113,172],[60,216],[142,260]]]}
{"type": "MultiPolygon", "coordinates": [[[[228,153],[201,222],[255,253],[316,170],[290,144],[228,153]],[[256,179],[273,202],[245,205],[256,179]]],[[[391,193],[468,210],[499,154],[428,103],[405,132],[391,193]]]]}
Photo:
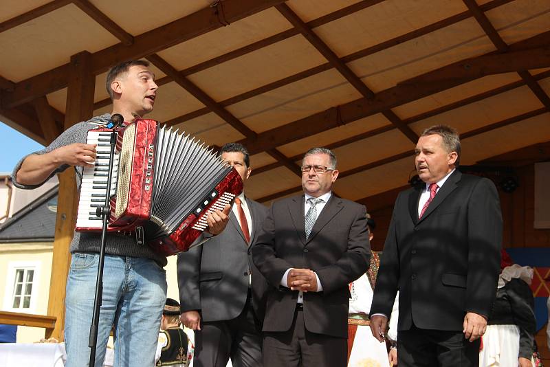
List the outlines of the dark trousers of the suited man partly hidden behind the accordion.
{"type": "Polygon", "coordinates": [[[195,367],[225,367],[231,357],[234,367],[262,366],[261,326],[256,320],[252,300],[233,320],[203,322],[195,331],[195,367]]]}

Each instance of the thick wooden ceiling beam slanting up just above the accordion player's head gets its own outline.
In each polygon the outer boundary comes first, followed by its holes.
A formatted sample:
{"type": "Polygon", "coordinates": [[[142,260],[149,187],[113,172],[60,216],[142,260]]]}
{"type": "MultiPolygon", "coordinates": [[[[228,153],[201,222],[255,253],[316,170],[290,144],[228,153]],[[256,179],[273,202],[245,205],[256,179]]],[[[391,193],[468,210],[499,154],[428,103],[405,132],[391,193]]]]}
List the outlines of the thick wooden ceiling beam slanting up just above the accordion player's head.
{"type": "MultiPolygon", "coordinates": [[[[118,43],[91,55],[94,75],[124,60],[142,58],[219,27],[261,12],[284,0],[225,0],[221,7],[207,7],[154,30],[135,36],[133,44],[118,43]],[[221,16],[221,18],[220,18],[221,16]],[[223,21],[221,21],[223,19],[223,21]]],[[[18,82],[13,93],[3,93],[3,108],[11,108],[68,85],[70,63],[18,82]]]]}

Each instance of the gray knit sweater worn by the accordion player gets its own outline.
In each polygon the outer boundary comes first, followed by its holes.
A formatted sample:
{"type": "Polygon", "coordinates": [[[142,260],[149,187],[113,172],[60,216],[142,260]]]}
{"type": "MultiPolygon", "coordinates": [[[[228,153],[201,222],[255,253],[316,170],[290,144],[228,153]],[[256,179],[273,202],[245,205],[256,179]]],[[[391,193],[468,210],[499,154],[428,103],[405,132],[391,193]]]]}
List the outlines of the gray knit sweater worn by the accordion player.
{"type": "MultiPolygon", "coordinates": [[[[107,122],[109,122],[109,118],[111,118],[111,115],[109,113],[106,113],[104,115],[91,118],[91,120],[88,120],[86,122],[78,122],[78,124],[75,124],[74,126],[64,131],[61,135],[59,135],[57,139],[52,142],[52,144],[42,149],[41,151],[32,154],[41,155],[49,153],[61,146],[66,146],[73,143],[86,143],[88,131],[100,125],[107,124],[107,122]]],[[[42,185],[42,183],[40,183],[39,185],[21,185],[21,183],[17,182],[17,171],[19,170],[19,168],[21,168],[21,164],[23,164],[23,160],[26,157],[28,157],[28,155],[23,157],[23,159],[19,161],[17,166],[15,166],[12,174],[12,182],[14,186],[23,189],[32,189],[39,187],[42,185]]],[[[58,167],[56,170],[54,170],[50,177],[57,173],[63,172],[69,167],[70,166],[68,165],[58,167]]],[[[78,190],[80,191],[80,182],[82,179],[83,167],[76,166],[74,167],[74,170],[76,173],[76,185],[78,187],[78,190]]],[[[48,179],[50,179],[50,177],[48,177],[48,179]]],[[[71,242],[70,251],[71,253],[100,252],[100,245],[100,233],[75,232],[73,240],[71,242]]],[[[112,232],[109,232],[109,236],[107,236],[105,253],[119,256],[133,256],[137,258],[152,258],[160,266],[164,267],[166,265],[166,257],[155,253],[153,249],[151,249],[151,247],[147,245],[137,245],[135,238],[133,238],[132,236],[124,236],[122,234],[115,234],[112,232]]]]}

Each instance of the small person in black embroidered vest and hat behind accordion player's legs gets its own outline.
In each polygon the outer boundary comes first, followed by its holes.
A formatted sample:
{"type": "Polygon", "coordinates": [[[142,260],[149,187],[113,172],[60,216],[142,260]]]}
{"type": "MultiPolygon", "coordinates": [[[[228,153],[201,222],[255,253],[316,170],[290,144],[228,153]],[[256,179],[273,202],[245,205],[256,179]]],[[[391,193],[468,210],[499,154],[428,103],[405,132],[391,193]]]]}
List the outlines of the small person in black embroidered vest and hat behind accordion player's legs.
{"type": "Polygon", "coordinates": [[[160,323],[159,343],[155,366],[188,367],[193,352],[193,345],[185,331],[181,329],[179,303],[172,298],[166,298],[160,323]]]}

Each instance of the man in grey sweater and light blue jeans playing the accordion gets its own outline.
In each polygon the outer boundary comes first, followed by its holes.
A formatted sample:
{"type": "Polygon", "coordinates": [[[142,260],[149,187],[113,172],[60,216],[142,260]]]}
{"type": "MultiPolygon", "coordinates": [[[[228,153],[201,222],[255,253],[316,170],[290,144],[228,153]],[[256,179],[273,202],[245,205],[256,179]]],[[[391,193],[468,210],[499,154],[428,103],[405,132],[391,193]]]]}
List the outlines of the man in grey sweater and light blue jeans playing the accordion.
{"type": "MultiPolygon", "coordinates": [[[[132,122],[153,111],[157,96],[155,76],[146,61],[129,61],[109,71],[107,91],[114,113],[132,122]]],[[[80,190],[83,167],[93,167],[96,146],[86,144],[89,130],[106,125],[111,114],[78,122],[52,144],[27,155],[14,168],[13,183],[32,189],[74,166],[80,190]]],[[[218,234],[228,222],[224,212],[208,216],[209,232],[218,234]]],[[[100,233],[76,232],[65,298],[65,347],[67,367],[88,366],[89,331],[94,309],[98,274],[100,233]]],[[[109,232],[105,248],[103,298],[98,324],[96,366],[103,365],[105,348],[114,326],[115,367],[153,366],[162,307],[166,299],[166,257],[146,245],[137,245],[135,236],[109,232]]]]}

